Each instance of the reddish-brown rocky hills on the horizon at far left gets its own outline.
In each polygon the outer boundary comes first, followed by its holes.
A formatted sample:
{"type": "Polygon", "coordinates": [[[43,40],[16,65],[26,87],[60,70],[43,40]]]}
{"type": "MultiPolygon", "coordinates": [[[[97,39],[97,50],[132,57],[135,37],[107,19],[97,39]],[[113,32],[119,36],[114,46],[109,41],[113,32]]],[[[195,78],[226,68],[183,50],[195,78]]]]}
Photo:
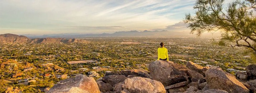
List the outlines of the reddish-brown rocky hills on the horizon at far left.
{"type": "Polygon", "coordinates": [[[64,39],[64,38],[35,38],[29,39],[26,36],[15,34],[1,34],[0,43],[85,43],[83,39],[64,39]]]}

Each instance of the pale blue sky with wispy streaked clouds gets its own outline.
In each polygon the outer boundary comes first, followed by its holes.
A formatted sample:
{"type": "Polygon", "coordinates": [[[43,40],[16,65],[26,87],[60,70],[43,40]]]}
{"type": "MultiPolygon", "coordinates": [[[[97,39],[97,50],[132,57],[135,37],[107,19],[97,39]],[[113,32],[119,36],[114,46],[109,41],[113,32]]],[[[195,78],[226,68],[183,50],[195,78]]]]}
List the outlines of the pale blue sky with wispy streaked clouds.
{"type": "Polygon", "coordinates": [[[189,31],[195,0],[1,0],[0,34],[189,31]]]}

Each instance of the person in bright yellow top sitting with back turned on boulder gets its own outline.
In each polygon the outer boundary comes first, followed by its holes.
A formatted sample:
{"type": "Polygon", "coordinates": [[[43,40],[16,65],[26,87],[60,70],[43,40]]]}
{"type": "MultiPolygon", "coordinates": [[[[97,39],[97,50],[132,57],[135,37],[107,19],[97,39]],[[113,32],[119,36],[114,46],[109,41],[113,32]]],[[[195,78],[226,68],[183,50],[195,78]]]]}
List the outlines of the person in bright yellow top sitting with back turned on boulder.
{"type": "Polygon", "coordinates": [[[168,58],[168,50],[164,47],[164,43],[160,43],[161,47],[157,49],[158,59],[157,60],[167,60],[168,58]]]}

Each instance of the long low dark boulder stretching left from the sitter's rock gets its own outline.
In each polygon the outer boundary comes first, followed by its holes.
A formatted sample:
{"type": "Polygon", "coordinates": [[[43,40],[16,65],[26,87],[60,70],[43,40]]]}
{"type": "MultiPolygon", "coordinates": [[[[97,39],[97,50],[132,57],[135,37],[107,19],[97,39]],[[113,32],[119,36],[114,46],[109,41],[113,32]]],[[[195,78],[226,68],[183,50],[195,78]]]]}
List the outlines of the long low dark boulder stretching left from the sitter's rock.
{"type": "Polygon", "coordinates": [[[108,72],[105,74],[107,75],[125,75],[128,77],[129,75],[135,75],[139,77],[144,77],[144,78],[151,78],[150,74],[148,71],[143,70],[143,69],[132,69],[132,70],[122,70],[122,71],[116,71],[116,72],[108,72]]]}

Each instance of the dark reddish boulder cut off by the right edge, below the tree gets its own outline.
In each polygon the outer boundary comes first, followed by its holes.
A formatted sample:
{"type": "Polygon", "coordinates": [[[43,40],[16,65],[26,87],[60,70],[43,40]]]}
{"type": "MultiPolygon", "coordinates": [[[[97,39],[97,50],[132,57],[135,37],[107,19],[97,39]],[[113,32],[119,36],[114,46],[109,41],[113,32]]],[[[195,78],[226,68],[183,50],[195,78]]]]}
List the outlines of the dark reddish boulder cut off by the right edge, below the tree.
{"type": "Polygon", "coordinates": [[[256,64],[248,65],[246,67],[246,73],[249,79],[256,79],[256,64]]]}

